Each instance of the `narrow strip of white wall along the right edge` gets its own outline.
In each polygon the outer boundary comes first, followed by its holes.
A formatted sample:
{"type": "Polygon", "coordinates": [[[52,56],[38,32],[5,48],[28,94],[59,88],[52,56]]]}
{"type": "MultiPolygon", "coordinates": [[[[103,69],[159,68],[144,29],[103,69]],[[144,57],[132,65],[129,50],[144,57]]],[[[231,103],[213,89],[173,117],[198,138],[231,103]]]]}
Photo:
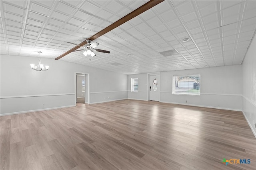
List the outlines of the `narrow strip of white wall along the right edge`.
{"type": "Polygon", "coordinates": [[[256,137],[256,39],[255,36],[242,64],[243,113],[256,137]]]}

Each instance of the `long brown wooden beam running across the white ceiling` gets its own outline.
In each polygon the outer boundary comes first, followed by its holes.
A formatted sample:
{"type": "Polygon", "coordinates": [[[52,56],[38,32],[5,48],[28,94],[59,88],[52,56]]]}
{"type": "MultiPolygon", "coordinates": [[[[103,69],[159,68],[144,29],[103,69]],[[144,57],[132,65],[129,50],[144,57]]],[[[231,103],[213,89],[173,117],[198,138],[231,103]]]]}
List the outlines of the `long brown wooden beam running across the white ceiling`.
{"type": "MultiPolygon", "coordinates": [[[[102,35],[104,35],[105,33],[115,29],[116,27],[122,25],[123,23],[131,20],[132,18],[142,14],[143,12],[145,12],[146,10],[149,10],[150,8],[156,6],[157,4],[160,4],[161,2],[163,2],[164,0],[150,0],[148,1],[146,4],[140,6],[139,8],[137,8],[136,10],[130,12],[129,14],[127,14],[126,16],[124,16],[123,18],[121,18],[120,20],[112,23],[111,25],[109,25],[108,27],[102,29],[100,32],[92,35],[92,37],[88,38],[90,40],[94,40],[102,35]]],[[[80,46],[85,45],[87,42],[86,40],[83,41],[82,43],[80,43],[80,46]]],[[[68,55],[69,53],[71,53],[72,51],[80,48],[80,46],[76,45],[75,47],[73,47],[72,49],[68,50],[66,53],[60,55],[59,57],[57,57],[55,60],[61,59],[62,57],[64,57],[65,55],[68,55]]]]}

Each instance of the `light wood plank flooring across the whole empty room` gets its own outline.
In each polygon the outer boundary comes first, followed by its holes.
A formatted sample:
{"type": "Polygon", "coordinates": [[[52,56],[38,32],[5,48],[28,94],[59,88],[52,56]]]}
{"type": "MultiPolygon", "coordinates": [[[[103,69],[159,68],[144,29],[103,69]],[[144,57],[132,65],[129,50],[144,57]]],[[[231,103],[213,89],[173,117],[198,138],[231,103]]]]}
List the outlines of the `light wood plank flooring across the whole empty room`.
{"type": "Polygon", "coordinates": [[[2,170],[255,169],[256,139],[239,111],[120,100],[0,119],[2,170]]]}

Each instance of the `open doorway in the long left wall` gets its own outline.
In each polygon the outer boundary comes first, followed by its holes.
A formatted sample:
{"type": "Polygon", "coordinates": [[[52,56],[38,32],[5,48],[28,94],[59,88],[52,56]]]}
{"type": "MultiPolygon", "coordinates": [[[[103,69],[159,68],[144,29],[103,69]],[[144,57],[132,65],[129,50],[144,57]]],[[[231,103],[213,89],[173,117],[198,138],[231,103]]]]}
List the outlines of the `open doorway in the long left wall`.
{"type": "Polygon", "coordinates": [[[75,103],[90,104],[90,78],[88,73],[75,72],[75,103]]]}

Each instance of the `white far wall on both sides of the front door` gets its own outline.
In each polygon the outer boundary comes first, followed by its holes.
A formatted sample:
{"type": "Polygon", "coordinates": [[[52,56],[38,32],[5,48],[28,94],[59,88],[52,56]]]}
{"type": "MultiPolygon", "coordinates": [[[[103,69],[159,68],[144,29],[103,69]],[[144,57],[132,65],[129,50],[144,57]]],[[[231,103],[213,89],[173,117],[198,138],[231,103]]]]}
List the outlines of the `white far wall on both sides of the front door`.
{"type": "MultiPolygon", "coordinates": [[[[148,74],[135,74],[128,76],[128,90],[130,91],[130,78],[139,78],[139,84],[147,91],[148,74]]],[[[160,102],[186,104],[192,106],[212,107],[230,110],[242,110],[242,66],[223,66],[201,68],[193,70],[179,70],[160,72],[160,102]],[[173,95],[172,76],[184,74],[201,74],[201,95],[173,95]],[[187,103],[186,103],[187,100],[187,103]]],[[[147,100],[147,92],[132,95],[128,98],[147,100]],[[143,94],[143,95],[142,95],[143,94]]]]}

